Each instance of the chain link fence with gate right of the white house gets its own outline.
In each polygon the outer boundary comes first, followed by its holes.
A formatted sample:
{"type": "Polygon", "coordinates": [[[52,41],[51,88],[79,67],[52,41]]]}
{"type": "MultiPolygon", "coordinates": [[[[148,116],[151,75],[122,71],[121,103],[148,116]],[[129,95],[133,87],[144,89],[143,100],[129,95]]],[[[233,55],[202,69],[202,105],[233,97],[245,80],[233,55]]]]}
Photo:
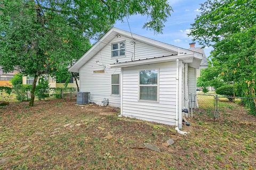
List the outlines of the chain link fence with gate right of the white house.
{"type": "Polygon", "coordinates": [[[221,114],[230,113],[239,106],[243,106],[247,112],[256,115],[256,98],[231,97],[211,94],[190,95],[190,115],[199,114],[217,120],[221,114]]]}

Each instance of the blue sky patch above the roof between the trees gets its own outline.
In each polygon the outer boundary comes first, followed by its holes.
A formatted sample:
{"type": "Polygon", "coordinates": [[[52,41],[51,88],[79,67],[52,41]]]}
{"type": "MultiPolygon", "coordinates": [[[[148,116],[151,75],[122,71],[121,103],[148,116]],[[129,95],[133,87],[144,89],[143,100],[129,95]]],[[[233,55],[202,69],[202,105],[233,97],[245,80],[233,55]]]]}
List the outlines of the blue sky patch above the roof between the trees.
{"type": "MultiPolygon", "coordinates": [[[[190,24],[194,22],[196,15],[199,14],[200,4],[205,0],[169,0],[173,7],[173,12],[170,18],[167,19],[163,34],[154,34],[154,31],[142,29],[143,23],[147,21],[146,16],[134,15],[128,18],[131,31],[138,35],[153,38],[171,45],[189,48],[189,43],[192,43],[191,37],[187,36],[190,24]]],[[[117,21],[114,25],[117,28],[130,31],[126,19],[124,22],[117,21]]],[[[199,47],[198,43],[196,47],[199,47]]],[[[212,47],[204,49],[206,56],[210,55],[212,47]]]]}

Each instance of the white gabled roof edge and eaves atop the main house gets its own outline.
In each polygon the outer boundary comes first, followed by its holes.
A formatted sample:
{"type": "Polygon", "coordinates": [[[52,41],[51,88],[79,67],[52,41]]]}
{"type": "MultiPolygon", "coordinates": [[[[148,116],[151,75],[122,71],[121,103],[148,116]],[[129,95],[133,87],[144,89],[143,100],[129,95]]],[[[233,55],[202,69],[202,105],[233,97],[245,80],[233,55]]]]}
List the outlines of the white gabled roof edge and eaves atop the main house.
{"type": "MultiPolygon", "coordinates": [[[[109,42],[115,38],[115,36],[119,34],[119,35],[123,35],[125,37],[129,37],[138,41],[141,41],[143,43],[158,47],[158,48],[162,48],[165,50],[169,50],[170,52],[174,53],[174,54],[194,54],[195,52],[193,52],[192,50],[189,49],[185,49],[185,48],[180,48],[177,46],[173,46],[170,44],[166,44],[166,43],[162,43],[160,41],[154,40],[154,39],[150,39],[150,38],[146,38],[137,34],[132,33],[131,36],[131,32],[125,31],[125,30],[121,30],[115,27],[112,27],[103,37],[101,37],[101,39],[99,41],[97,41],[97,43],[95,43],[76,63],[74,63],[73,65],[71,65],[69,67],[69,71],[70,72],[79,72],[79,69],[87,62],[89,61],[94,55],[96,55],[103,47],[105,47],[107,44],[109,44],[109,42]]],[[[197,52],[196,52],[197,53],[197,52]]],[[[202,59],[199,58],[199,59],[202,59]]]]}

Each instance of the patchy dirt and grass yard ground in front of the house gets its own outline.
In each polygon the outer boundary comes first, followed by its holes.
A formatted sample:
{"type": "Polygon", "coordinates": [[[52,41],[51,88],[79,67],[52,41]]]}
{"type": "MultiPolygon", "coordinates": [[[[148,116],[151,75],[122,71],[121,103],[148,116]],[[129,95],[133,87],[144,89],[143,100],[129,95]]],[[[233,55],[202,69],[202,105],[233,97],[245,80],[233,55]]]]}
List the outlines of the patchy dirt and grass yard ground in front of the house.
{"type": "Polygon", "coordinates": [[[254,169],[255,116],[238,105],[219,121],[204,114],[173,126],[118,117],[113,107],[74,101],[0,107],[0,169],[254,169]],[[239,109],[238,109],[239,107],[239,109]],[[175,143],[163,145],[172,138],[175,143]],[[143,149],[152,143],[161,152],[143,149]]]}

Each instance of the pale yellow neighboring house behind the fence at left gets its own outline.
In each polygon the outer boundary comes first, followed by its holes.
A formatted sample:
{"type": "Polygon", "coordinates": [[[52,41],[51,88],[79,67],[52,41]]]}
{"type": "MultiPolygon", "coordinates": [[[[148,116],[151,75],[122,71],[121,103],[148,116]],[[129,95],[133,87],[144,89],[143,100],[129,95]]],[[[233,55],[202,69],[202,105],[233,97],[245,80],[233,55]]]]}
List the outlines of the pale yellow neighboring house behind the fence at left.
{"type": "MultiPolygon", "coordinates": [[[[52,77],[45,77],[45,80],[49,81],[50,88],[64,88],[66,80],[63,80],[61,82],[56,81],[52,77]]],[[[77,80],[79,84],[79,80],[77,80]]],[[[34,78],[33,77],[22,77],[22,84],[33,84],[34,78]]],[[[79,86],[79,85],[78,85],[79,86]]],[[[68,83],[68,88],[77,88],[75,79],[73,77],[70,78],[68,83]]]]}

